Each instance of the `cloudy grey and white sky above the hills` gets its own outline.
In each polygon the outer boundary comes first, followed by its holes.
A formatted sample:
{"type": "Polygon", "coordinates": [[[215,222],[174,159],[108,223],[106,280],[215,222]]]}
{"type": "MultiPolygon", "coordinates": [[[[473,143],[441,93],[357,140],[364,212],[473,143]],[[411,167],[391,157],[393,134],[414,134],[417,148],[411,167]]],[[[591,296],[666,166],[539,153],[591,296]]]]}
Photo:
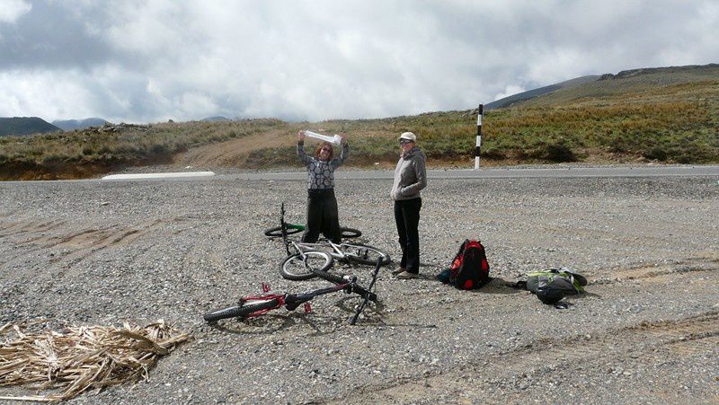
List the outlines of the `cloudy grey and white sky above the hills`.
{"type": "Polygon", "coordinates": [[[719,62],[716,0],[0,0],[0,117],[466,110],[581,75],[719,62]]]}

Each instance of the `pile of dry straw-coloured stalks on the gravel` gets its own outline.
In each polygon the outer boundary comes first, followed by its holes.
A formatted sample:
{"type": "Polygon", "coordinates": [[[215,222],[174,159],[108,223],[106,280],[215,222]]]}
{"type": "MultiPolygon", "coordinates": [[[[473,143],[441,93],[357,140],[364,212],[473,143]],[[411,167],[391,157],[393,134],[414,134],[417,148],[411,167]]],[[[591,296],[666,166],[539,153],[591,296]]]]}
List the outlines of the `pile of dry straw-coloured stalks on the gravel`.
{"type": "Polygon", "coordinates": [[[158,358],[187,340],[186,333],[157,321],[144,328],[82,326],[31,334],[6,324],[17,338],[0,343],[0,386],[29,384],[58,394],[2,397],[0,400],[63,401],[89,389],[147,379],[158,358]]]}

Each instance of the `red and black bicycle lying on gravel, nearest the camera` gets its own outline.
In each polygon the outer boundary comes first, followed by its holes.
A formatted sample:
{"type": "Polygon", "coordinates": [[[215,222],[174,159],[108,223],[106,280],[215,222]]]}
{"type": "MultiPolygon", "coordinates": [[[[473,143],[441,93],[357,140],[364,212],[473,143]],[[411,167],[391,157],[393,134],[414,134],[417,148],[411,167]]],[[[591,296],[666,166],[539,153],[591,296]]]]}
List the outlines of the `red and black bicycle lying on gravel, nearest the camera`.
{"type": "Polygon", "coordinates": [[[359,286],[357,284],[357,277],[332,274],[320,269],[314,269],[310,267],[311,271],[315,272],[315,276],[319,276],[328,281],[331,281],[335,283],[335,285],[299,294],[278,294],[271,293],[270,287],[267,286],[267,284],[262,283],[262,295],[244,296],[240,298],[238,304],[228,306],[217,311],[212,311],[210,313],[205,313],[203,318],[205,319],[205,321],[208,321],[210,323],[214,323],[226,318],[239,318],[244,320],[256,316],[261,316],[272,310],[279,309],[282,306],[287,308],[288,311],[294,311],[297,309],[297,307],[299,307],[299,305],[302,304],[305,305],[305,313],[309,313],[311,311],[309,302],[312,301],[316,296],[331,294],[338,291],[344,291],[347,294],[357,294],[364,298],[364,301],[358,306],[358,309],[355,311],[354,316],[351,318],[350,324],[354,325],[359,318],[359,314],[362,313],[367,303],[369,301],[377,302],[377,295],[372,292],[372,288],[377,282],[377,275],[379,274],[380,267],[380,261],[377,260],[377,266],[375,267],[375,272],[372,276],[372,281],[369,284],[368,288],[359,286]]]}

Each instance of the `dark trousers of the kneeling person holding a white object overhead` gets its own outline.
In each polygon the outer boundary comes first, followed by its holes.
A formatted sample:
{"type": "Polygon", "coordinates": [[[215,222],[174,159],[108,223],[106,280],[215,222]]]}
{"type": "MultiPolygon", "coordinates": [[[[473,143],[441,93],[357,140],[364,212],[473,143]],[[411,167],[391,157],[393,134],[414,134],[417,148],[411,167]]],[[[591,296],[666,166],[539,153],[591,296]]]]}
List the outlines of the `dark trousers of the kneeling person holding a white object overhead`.
{"type": "Polygon", "coordinates": [[[307,227],[302,242],[317,242],[320,233],[332,242],[342,242],[334,189],[307,189],[307,227]]]}

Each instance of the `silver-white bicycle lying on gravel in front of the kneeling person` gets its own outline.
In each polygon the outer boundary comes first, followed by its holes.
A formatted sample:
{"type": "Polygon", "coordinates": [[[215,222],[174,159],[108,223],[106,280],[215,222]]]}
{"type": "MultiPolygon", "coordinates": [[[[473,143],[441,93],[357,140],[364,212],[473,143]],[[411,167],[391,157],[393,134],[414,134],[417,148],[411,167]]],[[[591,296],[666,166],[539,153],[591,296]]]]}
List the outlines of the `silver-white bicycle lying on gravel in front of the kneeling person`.
{"type": "Polygon", "coordinates": [[[288,256],[280,264],[280,275],[288,280],[307,280],[316,277],[316,272],[313,269],[327,271],[332,268],[334,260],[367,265],[379,263],[380,266],[390,262],[389,254],[386,251],[363,243],[290,241],[287,233],[284,232],[286,225],[285,205],[282,204],[280,207],[280,233],[285,242],[288,256]]]}

